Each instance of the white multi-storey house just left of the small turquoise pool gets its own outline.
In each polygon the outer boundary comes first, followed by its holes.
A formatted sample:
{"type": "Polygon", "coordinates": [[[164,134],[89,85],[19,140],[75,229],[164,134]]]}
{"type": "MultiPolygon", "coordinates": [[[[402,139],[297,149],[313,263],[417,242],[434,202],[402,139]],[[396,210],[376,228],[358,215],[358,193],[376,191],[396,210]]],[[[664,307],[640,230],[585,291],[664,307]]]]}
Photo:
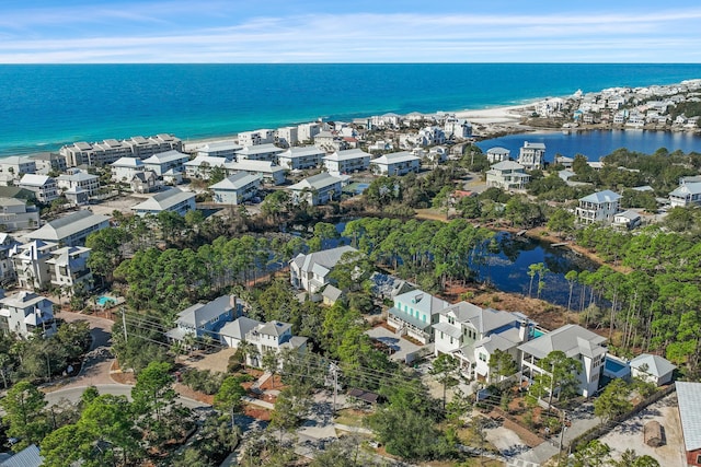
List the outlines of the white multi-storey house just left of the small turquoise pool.
{"type": "Polygon", "coordinates": [[[56,288],[76,288],[92,290],[92,272],[88,268],[90,248],[82,246],[65,246],[50,252],[51,257],[46,261],[49,267],[51,285],[56,288]]]}

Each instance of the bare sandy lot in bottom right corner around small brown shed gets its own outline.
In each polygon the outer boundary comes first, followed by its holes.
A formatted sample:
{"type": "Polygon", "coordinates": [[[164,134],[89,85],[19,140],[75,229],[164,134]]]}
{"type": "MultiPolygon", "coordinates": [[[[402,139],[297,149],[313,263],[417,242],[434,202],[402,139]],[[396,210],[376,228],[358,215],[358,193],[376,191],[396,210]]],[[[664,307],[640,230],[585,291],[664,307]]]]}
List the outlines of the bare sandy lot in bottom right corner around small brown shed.
{"type": "Polygon", "coordinates": [[[647,407],[601,437],[601,442],[611,446],[611,454],[617,459],[623,451],[630,448],[637,455],[654,457],[660,466],[686,465],[677,395],[670,394],[647,407]],[[643,441],[643,427],[651,420],[656,420],[664,427],[666,443],[660,447],[650,447],[643,441]]]}

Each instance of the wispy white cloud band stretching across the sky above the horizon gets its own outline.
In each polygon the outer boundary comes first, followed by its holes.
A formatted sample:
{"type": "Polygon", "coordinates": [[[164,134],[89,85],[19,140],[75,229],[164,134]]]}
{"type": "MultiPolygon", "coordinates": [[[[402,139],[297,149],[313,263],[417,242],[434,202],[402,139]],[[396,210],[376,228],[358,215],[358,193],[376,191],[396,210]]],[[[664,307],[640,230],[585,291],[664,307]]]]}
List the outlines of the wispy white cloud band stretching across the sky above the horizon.
{"type": "MultiPolygon", "coordinates": [[[[103,17],[119,12],[102,10],[103,17]]],[[[127,13],[124,13],[127,14],[127,13]]],[[[133,14],[133,13],[128,13],[133,14]]],[[[699,61],[701,9],[655,14],[318,14],[227,27],[92,37],[12,37],[1,62],[699,61]]],[[[30,36],[32,37],[32,36],[30,36]]]]}

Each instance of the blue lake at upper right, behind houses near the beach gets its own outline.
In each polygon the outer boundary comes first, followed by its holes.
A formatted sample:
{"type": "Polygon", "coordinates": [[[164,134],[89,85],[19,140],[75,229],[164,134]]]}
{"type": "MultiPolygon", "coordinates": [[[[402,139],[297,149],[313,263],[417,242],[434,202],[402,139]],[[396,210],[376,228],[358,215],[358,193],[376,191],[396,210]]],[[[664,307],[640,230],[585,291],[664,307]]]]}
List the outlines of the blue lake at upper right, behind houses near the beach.
{"type": "Polygon", "coordinates": [[[652,131],[652,130],[587,130],[536,132],[507,135],[501,138],[480,141],[476,145],[486,152],[490,148],[502,147],[512,151],[512,159],[518,157],[524,141],[545,144],[545,161],[552,162],[555,154],[574,157],[584,154],[589,161],[598,161],[620,148],[652,154],[659,148],[669,152],[681,150],[701,153],[701,137],[690,132],[652,131]]]}

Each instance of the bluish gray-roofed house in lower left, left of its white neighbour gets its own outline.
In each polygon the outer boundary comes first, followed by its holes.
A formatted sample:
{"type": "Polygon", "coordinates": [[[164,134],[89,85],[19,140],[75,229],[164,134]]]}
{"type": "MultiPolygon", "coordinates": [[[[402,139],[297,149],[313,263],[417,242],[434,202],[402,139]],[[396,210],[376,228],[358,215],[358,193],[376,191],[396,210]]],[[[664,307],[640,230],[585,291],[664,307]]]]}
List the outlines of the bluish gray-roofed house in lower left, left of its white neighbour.
{"type": "Polygon", "coordinates": [[[197,303],[177,314],[177,327],[165,332],[165,336],[171,340],[183,340],[189,334],[197,338],[210,336],[219,340],[219,330],[241,316],[242,308],[234,295],[221,295],[209,303],[197,303]]]}

